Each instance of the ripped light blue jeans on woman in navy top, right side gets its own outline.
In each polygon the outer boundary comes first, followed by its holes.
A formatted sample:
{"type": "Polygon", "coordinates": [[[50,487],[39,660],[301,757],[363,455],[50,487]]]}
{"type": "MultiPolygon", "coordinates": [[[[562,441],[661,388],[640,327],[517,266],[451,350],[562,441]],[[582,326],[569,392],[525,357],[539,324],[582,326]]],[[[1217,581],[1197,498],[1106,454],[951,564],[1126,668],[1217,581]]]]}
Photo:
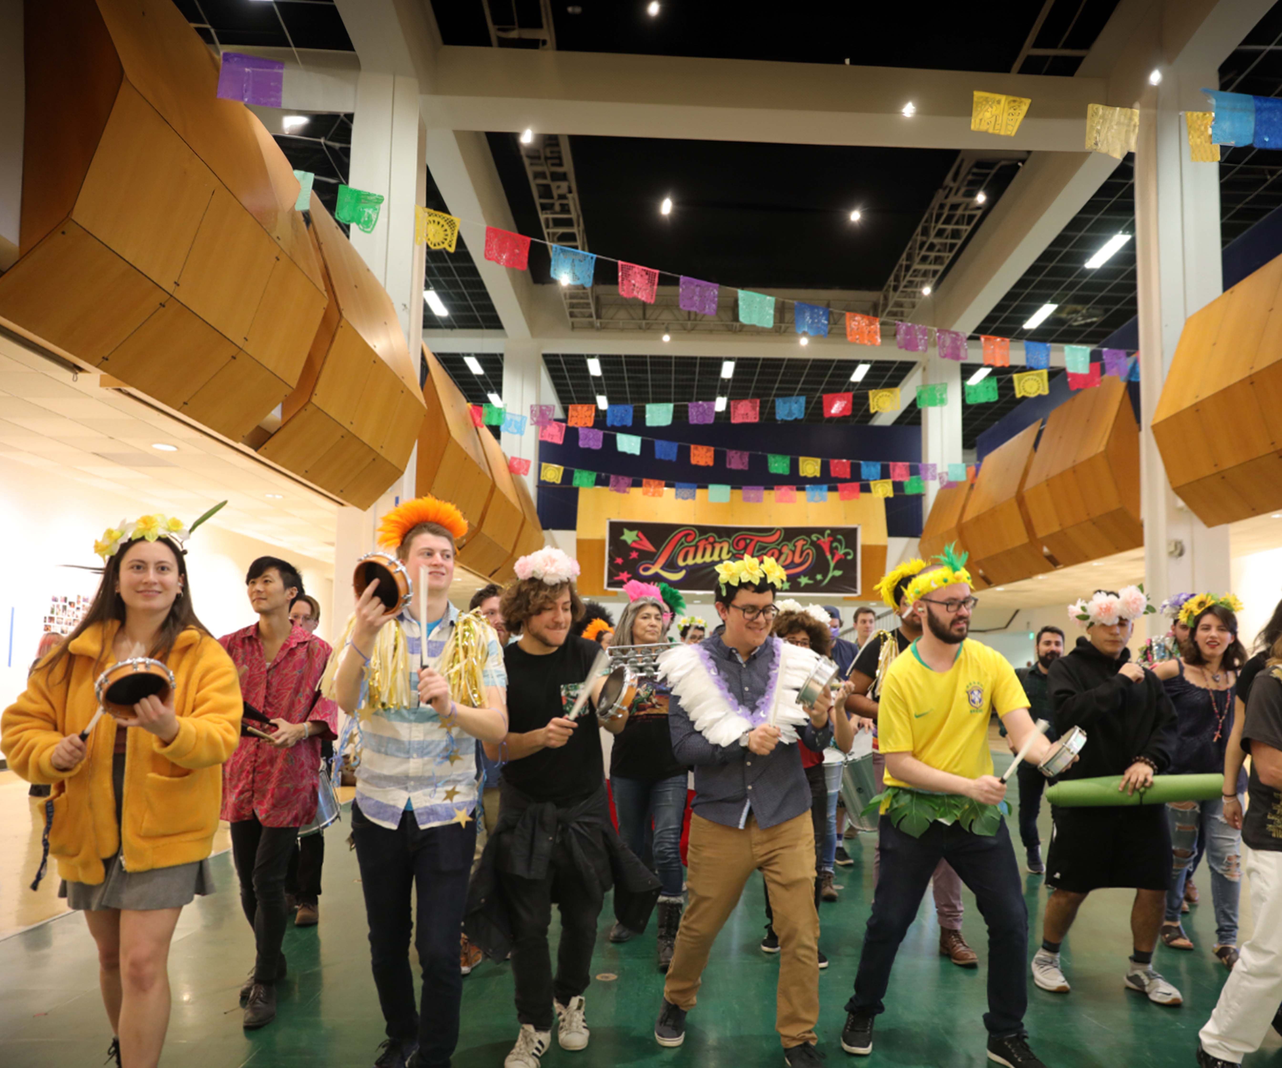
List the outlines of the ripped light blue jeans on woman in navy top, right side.
{"type": "Polygon", "coordinates": [[[1215,944],[1237,945],[1237,903],[1242,894],[1242,836],[1224,822],[1224,801],[1181,801],[1167,805],[1170,822],[1170,885],[1167,923],[1179,922],[1190,863],[1199,847],[1210,867],[1210,896],[1215,908],[1215,944]]]}

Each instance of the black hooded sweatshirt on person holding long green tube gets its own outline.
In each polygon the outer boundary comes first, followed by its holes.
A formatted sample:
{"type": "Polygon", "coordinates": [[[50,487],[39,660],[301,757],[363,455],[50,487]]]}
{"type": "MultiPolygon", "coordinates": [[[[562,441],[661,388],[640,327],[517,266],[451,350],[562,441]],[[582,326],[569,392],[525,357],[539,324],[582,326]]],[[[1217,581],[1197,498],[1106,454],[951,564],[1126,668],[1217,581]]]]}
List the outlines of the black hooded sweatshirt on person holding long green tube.
{"type": "Polygon", "coordinates": [[[1118,672],[1129,659],[1129,649],[1113,659],[1079,637],[1072,653],[1050,665],[1055,730],[1060,737],[1073,727],[1086,731],[1086,747],[1061,778],[1118,776],[1137,756],[1147,756],[1158,772],[1170,765],[1176,709],[1153,672],[1142,682],[1118,672]]]}

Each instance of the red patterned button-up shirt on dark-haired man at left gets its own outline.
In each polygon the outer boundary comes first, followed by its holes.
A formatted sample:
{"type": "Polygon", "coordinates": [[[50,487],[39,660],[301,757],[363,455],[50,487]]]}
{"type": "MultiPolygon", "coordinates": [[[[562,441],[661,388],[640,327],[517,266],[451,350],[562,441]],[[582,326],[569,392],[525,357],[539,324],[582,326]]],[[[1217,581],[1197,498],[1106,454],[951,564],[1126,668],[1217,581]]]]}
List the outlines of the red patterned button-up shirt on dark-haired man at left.
{"type": "Polygon", "coordinates": [[[324,726],[319,735],[292,749],[277,749],[250,735],[240,740],[223,764],[222,818],[258,817],[264,827],[303,827],[317,814],[317,769],[320,740],[337,736],[337,705],[317,700],[329,646],[295,624],[271,664],[263,660],[258,623],[219,638],[237,668],[244,668],[241,694],[268,719],[324,726]]]}

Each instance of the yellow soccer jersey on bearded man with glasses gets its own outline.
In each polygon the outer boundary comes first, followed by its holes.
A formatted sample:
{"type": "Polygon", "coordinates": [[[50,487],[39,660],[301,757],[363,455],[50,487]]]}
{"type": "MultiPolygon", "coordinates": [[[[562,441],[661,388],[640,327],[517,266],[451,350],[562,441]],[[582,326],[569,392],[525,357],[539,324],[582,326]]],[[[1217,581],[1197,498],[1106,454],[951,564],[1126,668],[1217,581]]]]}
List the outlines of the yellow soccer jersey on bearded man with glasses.
{"type": "MultiPolygon", "coordinates": [[[[946,672],[931,671],[917,642],[886,672],[877,714],[882,753],[912,753],[941,772],[978,778],[992,774],[988,717],[1028,708],[1028,697],[1006,659],[967,638],[946,672]]],[[[887,786],[908,786],[886,772],[887,786]]]]}

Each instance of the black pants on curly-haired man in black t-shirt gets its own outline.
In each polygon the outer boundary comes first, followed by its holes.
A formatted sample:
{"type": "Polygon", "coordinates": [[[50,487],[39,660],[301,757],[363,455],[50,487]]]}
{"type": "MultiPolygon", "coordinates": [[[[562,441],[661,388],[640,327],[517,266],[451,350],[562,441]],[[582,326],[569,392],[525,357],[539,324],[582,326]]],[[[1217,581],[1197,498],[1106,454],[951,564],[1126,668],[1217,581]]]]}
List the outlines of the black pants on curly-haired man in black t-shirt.
{"type": "MultiPolygon", "coordinates": [[[[528,880],[500,872],[512,923],[512,976],[517,986],[517,1019],[536,1031],[551,1031],[553,997],[563,1005],[577,997],[591,981],[596,919],[601,903],[594,903],[564,842],[556,844],[547,877],[528,880]],[[556,978],[553,978],[547,927],[553,900],[560,908],[562,937],[556,949],[556,978]]],[[[458,955],[458,954],[455,954],[458,955]]]]}

